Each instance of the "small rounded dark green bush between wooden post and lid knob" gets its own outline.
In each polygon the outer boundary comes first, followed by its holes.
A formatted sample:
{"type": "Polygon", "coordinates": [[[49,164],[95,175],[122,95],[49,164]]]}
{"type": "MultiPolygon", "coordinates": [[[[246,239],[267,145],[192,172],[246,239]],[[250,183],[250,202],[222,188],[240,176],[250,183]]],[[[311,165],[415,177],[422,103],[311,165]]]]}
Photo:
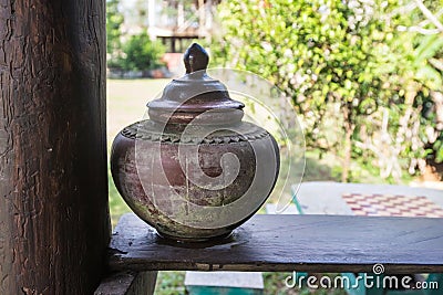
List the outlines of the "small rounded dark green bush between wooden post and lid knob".
{"type": "Polygon", "coordinates": [[[165,53],[162,43],[151,41],[146,33],[132,35],[122,48],[123,54],[120,57],[122,70],[146,71],[162,65],[161,59],[165,53]]]}

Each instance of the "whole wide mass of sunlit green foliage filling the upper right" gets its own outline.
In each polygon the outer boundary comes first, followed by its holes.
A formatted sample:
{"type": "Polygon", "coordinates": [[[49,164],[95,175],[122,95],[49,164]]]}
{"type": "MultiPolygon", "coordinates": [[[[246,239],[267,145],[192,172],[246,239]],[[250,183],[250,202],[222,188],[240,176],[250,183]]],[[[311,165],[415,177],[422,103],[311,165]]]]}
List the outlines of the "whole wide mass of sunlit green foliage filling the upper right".
{"type": "MultiPolygon", "coordinates": [[[[416,126],[421,106],[413,106],[419,93],[442,89],[434,64],[443,38],[399,29],[422,19],[396,0],[225,1],[225,32],[213,55],[284,89],[302,118],[308,147],[341,155],[349,180],[351,157],[379,158],[379,168],[391,167],[393,157],[404,167],[402,157],[424,157],[432,141],[422,131],[435,119],[416,126]],[[385,152],[388,146],[395,148],[385,152]]],[[[387,177],[400,179],[395,169],[387,177]]]]}

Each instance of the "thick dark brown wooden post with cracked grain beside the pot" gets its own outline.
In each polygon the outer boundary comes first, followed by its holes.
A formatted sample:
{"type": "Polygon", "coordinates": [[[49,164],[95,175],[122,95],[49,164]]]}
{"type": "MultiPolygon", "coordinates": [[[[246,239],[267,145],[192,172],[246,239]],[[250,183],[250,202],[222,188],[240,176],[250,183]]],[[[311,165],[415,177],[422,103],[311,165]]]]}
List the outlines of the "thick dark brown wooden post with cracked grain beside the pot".
{"type": "Polygon", "coordinates": [[[105,1],[1,0],[0,294],[92,294],[110,238],[105,1]]]}

